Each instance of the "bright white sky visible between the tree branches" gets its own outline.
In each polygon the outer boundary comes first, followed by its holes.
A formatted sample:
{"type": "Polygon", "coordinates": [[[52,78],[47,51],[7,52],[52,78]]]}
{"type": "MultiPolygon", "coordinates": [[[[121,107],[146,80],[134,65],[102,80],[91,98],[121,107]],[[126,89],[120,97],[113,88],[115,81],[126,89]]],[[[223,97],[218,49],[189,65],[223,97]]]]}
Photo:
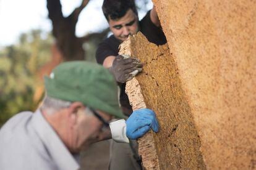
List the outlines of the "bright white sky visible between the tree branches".
{"type": "MultiPolygon", "coordinates": [[[[61,0],[62,12],[67,16],[81,0],[61,0]]],[[[91,0],[82,10],[77,23],[77,36],[106,28],[108,23],[101,11],[103,0],[91,0]]],[[[153,5],[148,4],[147,9],[153,5]]],[[[140,13],[142,18],[145,13],[140,13]]],[[[14,44],[21,33],[38,29],[51,31],[46,0],[0,0],[0,47],[14,44]]]]}

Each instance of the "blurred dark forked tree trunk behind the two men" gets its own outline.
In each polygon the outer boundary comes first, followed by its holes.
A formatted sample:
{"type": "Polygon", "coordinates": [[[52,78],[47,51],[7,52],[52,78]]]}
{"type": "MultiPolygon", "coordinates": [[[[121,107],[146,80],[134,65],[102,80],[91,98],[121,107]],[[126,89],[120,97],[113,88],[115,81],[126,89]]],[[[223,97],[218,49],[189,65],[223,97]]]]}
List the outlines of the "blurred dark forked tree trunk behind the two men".
{"type": "Polygon", "coordinates": [[[85,59],[82,39],[75,36],[75,26],[80,12],[88,1],[83,0],[80,7],[77,7],[68,17],[64,17],[60,0],[47,0],[49,18],[53,23],[53,36],[56,38],[56,44],[64,61],[85,59]]]}

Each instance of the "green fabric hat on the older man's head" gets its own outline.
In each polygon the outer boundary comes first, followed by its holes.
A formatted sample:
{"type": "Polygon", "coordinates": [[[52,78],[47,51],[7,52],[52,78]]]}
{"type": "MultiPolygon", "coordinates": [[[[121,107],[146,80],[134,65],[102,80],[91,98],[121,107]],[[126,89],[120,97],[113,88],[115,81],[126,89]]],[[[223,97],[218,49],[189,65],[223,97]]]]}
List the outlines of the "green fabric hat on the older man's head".
{"type": "Polygon", "coordinates": [[[113,75],[101,65],[91,62],[64,62],[45,76],[45,89],[49,97],[70,102],[82,102],[124,118],[119,107],[117,84],[113,75]]]}

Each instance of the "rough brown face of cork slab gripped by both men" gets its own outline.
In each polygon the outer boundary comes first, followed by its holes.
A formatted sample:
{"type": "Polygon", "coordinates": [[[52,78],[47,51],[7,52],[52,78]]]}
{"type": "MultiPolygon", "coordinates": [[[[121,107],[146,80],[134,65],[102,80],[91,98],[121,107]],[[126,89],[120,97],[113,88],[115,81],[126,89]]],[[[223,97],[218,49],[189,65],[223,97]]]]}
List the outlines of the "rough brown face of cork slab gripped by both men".
{"type": "Polygon", "coordinates": [[[143,63],[143,72],[136,78],[145,104],[160,123],[160,132],[153,134],[160,169],[205,169],[200,139],[168,45],[156,46],[138,33],[123,42],[121,53],[122,49],[143,63]]]}

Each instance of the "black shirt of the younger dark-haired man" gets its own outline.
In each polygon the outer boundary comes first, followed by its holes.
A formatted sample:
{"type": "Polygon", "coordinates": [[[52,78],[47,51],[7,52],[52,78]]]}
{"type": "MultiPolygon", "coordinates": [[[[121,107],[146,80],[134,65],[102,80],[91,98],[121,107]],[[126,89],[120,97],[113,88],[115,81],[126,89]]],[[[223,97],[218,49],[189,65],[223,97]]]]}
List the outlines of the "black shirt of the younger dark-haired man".
{"type": "MultiPolygon", "coordinates": [[[[144,34],[148,41],[156,45],[163,45],[166,43],[166,37],[164,36],[163,30],[151,22],[150,11],[148,11],[145,17],[140,20],[139,26],[140,31],[144,34]]],[[[96,61],[102,65],[106,57],[109,55],[118,55],[119,44],[121,44],[121,42],[116,39],[114,35],[106,38],[98,45],[98,49],[96,51],[96,61]]],[[[125,92],[126,83],[119,83],[118,85],[121,88],[120,104],[122,106],[122,110],[124,111],[125,115],[130,115],[130,113],[132,113],[132,107],[129,104],[129,99],[125,92]]]]}

